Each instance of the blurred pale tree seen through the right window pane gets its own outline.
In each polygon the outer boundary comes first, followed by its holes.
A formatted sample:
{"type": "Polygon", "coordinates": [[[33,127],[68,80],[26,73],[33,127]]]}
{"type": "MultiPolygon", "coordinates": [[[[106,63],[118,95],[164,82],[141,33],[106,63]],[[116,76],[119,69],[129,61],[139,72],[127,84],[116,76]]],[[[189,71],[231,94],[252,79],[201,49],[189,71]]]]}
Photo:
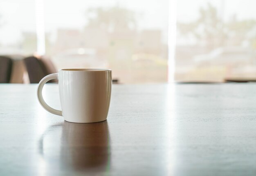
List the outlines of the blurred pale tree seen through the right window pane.
{"type": "Polygon", "coordinates": [[[199,44],[208,49],[225,45],[242,45],[256,27],[255,20],[237,20],[236,16],[224,22],[216,7],[211,3],[207,7],[200,7],[199,18],[189,23],[177,23],[177,28],[184,36],[193,36],[199,44]]]}

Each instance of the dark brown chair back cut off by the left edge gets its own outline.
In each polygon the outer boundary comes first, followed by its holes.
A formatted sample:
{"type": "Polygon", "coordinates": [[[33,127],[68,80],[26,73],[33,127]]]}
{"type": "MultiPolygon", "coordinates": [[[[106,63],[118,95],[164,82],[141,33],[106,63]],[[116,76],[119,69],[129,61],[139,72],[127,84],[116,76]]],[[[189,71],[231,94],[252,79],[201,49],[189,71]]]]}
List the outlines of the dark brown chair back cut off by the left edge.
{"type": "Polygon", "coordinates": [[[12,60],[6,56],[0,56],[0,83],[9,83],[11,80],[12,60]]]}

